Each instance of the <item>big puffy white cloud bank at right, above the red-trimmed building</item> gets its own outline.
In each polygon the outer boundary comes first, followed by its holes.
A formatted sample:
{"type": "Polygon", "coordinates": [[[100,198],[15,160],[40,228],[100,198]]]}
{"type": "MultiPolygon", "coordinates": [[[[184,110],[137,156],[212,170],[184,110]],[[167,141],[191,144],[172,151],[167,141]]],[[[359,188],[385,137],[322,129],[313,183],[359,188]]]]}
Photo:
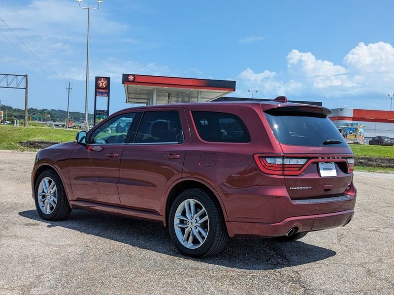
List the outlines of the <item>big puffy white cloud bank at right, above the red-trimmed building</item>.
{"type": "Polygon", "coordinates": [[[392,91],[394,85],[394,48],[385,42],[359,43],[343,59],[344,65],[316,59],[310,52],[293,49],[286,57],[287,71],[250,68],[239,75],[238,92],[258,89],[267,96],[277,94],[343,97],[392,91]]]}

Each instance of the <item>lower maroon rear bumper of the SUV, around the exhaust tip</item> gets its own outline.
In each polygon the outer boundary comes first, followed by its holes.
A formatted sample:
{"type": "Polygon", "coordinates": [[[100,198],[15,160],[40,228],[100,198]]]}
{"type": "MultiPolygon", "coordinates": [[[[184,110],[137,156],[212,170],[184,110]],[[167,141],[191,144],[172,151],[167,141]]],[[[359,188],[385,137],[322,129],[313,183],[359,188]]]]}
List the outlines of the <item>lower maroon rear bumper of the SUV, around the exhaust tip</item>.
{"type": "Polygon", "coordinates": [[[285,236],[292,229],[297,232],[319,231],[344,226],[353,218],[354,210],[334,213],[289,217],[278,223],[252,223],[228,221],[230,237],[271,237],[285,236]]]}

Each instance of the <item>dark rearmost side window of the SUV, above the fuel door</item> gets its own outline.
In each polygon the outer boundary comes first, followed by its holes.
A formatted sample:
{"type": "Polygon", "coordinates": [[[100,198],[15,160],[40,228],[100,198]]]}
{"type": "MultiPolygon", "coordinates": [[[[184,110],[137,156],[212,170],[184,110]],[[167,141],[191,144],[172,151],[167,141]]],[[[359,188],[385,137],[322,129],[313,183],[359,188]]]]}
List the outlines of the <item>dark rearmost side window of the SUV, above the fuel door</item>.
{"type": "Polygon", "coordinates": [[[192,112],[198,135],[208,142],[248,143],[243,121],[235,115],[218,112],[192,112]]]}

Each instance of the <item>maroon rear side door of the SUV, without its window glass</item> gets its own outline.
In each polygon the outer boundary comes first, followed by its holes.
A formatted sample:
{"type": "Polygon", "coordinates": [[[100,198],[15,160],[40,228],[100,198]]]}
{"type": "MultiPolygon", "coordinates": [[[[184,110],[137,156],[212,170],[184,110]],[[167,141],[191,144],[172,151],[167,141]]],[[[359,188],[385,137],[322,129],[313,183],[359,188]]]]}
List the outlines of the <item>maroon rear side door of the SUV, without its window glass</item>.
{"type": "Polygon", "coordinates": [[[122,206],[160,215],[164,214],[163,203],[168,187],[182,177],[186,150],[191,145],[184,109],[167,107],[163,110],[178,111],[184,134],[183,143],[127,145],[121,159],[118,183],[122,206]]]}

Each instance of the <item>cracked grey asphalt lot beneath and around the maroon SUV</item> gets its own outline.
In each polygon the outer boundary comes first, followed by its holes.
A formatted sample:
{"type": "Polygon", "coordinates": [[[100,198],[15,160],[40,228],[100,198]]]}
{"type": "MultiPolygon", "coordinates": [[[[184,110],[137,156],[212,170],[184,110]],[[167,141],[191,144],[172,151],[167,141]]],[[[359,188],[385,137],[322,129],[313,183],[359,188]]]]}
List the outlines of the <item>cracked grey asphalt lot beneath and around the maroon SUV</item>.
{"type": "Polygon", "coordinates": [[[74,210],[39,218],[35,153],[0,150],[0,294],[394,294],[394,174],[356,173],[356,215],[300,241],[181,256],[161,225],[74,210]]]}

